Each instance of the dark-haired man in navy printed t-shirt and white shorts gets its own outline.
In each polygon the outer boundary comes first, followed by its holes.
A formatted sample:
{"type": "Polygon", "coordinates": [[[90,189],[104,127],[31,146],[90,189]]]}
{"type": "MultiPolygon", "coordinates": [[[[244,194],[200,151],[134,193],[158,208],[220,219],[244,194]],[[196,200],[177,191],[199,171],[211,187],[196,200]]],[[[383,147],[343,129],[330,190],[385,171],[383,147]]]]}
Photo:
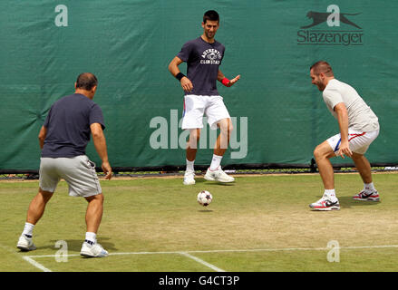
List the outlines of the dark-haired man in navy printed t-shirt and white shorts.
{"type": "Polygon", "coordinates": [[[220,129],[205,179],[220,182],[234,181],[234,178],[228,176],[220,167],[221,159],[228,149],[232,123],[223,98],[218,95],[217,81],[230,87],[238,82],[240,75],[228,80],[219,70],[225,47],[214,39],[218,25],[218,13],[214,10],[207,11],[203,16],[203,34],[185,43],[180,53],[169,64],[170,73],[180,81],[181,88],[185,92],[182,129],[189,130],[187,169],[183,181],[185,185],[195,184],[194,162],[200,129],[203,128],[203,114],[206,114],[211,129],[215,130],[217,127],[220,129]],[[187,75],[181,73],[179,69],[179,65],[183,62],[187,63],[187,75]]]}

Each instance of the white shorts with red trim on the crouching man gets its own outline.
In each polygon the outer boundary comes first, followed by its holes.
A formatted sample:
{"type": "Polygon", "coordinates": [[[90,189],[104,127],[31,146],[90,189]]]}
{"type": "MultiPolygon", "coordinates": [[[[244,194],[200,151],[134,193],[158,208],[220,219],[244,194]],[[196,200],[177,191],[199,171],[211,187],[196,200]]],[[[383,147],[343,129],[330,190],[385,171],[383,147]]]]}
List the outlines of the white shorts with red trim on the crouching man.
{"type": "MultiPolygon", "coordinates": [[[[370,131],[370,132],[360,132],[348,129],[348,144],[350,146],[350,150],[355,153],[362,154],[366,152],[369,148],[369,145],[377,138],[379,135],[379,131],[370,131]]],[[[330,137],[327,142],[329,143],[332,150],[337,151],[340,149],[341,143],[341,135],[336,134],[333,137],[330,137]]]]}

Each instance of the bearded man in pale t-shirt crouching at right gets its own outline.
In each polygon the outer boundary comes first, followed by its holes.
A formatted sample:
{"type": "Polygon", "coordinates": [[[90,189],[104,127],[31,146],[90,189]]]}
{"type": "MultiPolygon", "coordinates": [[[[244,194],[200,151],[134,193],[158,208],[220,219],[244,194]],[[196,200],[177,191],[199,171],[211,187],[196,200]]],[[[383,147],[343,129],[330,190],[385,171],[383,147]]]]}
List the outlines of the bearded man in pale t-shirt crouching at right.
{"type": "Polygon", "coordinates": [[[364,181],[364,189],[355,200],[379,201],[374,189],[369,161],[364,153],[379,134],[379,122],[374,111],[364,102],[353,87],[335,79],[329,63],[320,61],[310,68],[312,83],[323,92],[325,104],[338,121],[340,133],[325,140],[314,150],[314,157],[325,187],[325,193],[315,203],[314,210],[340,209],[335,196],[334,170],[330,159],[335,156],[351,157],[364,181]]]}

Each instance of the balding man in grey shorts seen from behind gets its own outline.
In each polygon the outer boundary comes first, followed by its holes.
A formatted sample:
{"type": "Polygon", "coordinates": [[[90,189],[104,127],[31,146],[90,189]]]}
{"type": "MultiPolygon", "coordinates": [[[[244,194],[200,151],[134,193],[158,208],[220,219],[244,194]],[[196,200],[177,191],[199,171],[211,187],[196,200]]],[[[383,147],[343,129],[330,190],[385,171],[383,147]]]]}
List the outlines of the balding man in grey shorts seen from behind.
{"type": "Polygon", "coordinates": [[[83,197],[88,201],[86,211],[87,232],[81,255],[108,256],[108,252],[97,243],[103,210],[103,195],[95,164],[85,155],[90,135],[102,160],[105,179],[112,179],[112,168],[108,161],[102,110],[92,98],[97,90],[97,78],[92,73],[78,76],[75,92],[53,103],[39,133],[42,158],[40,162],[39,192],[31,201],[24,231],[17,246],[23,251],[36,247],[33,230],[42,218],[44,208],[53,197],[60,179],[69,186],[69,195],[83,197]]]}

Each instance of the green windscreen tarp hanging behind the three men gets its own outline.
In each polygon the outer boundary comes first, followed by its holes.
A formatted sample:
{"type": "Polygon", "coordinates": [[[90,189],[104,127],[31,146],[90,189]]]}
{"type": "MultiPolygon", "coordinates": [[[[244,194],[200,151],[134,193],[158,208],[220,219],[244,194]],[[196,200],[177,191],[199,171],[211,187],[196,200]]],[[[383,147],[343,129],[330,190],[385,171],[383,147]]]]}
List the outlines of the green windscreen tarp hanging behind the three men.
{"type": "MultiPolygon", "coordinates": [[[[234,123],[222,164],[309,164],[338,133],[309,78],[318,60],[379,117],[368,159],[398,162],[398,2],[15,0],[0,2],[0,169],[38,169],[45,116],[83,72],[99,80],[112,167],[185,164],[183,92],[168,65],[209,9],[226,46],[220,70],[241,75],[218,83],[234,123]]],[[[209,164],[216,137],[205,126],[196,164],[209,164]]],[[[100,162],[92,142],[87,155],[100,162]]]]}

